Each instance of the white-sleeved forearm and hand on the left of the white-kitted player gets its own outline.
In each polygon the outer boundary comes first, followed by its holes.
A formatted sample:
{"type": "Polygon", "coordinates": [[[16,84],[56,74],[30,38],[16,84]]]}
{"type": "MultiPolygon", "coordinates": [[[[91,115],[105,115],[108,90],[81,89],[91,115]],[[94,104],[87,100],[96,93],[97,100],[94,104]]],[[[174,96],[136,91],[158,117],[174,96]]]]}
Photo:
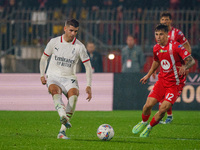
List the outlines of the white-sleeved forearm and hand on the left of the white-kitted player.
{"type": "Polygon", "coordinates": [[[42,54],[42,57],[40,59],[40,80],[41,80],[43,85],[46,84],[45,70],[46,70],[46,67],[47,67],[48,58],[49,58],[48,56],[42,54]]]}

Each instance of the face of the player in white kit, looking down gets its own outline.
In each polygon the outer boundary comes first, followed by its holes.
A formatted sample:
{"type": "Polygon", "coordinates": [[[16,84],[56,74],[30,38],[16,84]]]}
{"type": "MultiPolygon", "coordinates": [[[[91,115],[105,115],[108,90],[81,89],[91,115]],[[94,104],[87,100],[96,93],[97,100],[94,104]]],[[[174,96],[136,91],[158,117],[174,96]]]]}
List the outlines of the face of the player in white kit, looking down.
{"type": "Polygon", "coordinates": [[[77,33],[78,33],[78,28],[75,28],[74,26],[71,26],[71,25],[67,25],[64,27],[64,31],[65,31],[65,37],[66,37],[66,40],[67,42],[71,42],[74,37],[76,37],[77,33]]]}

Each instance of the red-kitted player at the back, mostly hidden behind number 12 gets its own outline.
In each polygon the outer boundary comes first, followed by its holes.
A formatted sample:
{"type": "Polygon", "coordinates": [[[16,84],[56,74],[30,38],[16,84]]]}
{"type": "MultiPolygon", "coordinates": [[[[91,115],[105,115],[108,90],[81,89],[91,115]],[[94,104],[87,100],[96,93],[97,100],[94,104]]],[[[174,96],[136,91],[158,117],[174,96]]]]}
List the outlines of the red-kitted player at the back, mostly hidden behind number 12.
{"type": "MultiPolygon", "coordinates": [[[[189,52],[192,53],[191,46],[188,42],[188,40],[185,38],[183,32],[177,28],[172,27],[172,15],[169,12],[163,12],[160,15],[160,23],[165,24],[168,26],[168,39],[174,40],[179,42],[183,47],[189,52]]],[[[184,62],[183,62],[184,63],[184,62]]],[[[187,74],[187,73],[186,73],[187,74]]],[[[185,76],[185,81],[186,81],[186,76],[185,76]]],[[[180,96],[180,95],[179,95],[180,96]]],[[[178,97],[179,97],[178,96],[178,97]]],[[[159,107],[161,106],[162,101],[159,103],[159,107]]],[[[172,107],[169,108],[167,111],[167,118],[165,121],[160,121],[161,124],[167,124],[171,123],[173,120],[173,115],[172,115],[172,107]]]]}

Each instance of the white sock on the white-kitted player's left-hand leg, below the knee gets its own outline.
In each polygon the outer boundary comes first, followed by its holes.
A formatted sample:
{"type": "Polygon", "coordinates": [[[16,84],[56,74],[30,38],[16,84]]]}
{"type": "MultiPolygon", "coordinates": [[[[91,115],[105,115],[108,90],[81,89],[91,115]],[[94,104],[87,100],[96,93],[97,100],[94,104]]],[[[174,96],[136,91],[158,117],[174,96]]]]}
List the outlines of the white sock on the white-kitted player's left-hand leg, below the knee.
{"type": "Polygon", "coordinates": [[[58,114],[60,117],[66,116],[65,113],[65,104],[62,101],[62,95],[61,94],[55,94],[53,96],[54,106],[55,109],[58,111],[58,114]]]}

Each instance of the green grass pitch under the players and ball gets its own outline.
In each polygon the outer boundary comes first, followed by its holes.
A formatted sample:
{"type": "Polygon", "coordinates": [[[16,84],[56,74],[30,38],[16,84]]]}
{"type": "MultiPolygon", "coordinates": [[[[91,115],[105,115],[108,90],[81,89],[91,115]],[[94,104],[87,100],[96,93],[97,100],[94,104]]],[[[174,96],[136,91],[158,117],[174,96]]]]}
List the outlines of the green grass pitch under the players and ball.
{"type": "Polygon", "coordinates": [[[55,111],[0,111],[0,150],[200,150],[200,111],[173,113],[172,124],[159,124],[150,137],[139,138],[131,130],[141,120],[141,111],[77,111],[67,131],[71,139],[61,140],[56,139],[60,122],[55,111]],[[96,136],[98,126],[104,123],[114,128],[111,141],[96,136]]]}

